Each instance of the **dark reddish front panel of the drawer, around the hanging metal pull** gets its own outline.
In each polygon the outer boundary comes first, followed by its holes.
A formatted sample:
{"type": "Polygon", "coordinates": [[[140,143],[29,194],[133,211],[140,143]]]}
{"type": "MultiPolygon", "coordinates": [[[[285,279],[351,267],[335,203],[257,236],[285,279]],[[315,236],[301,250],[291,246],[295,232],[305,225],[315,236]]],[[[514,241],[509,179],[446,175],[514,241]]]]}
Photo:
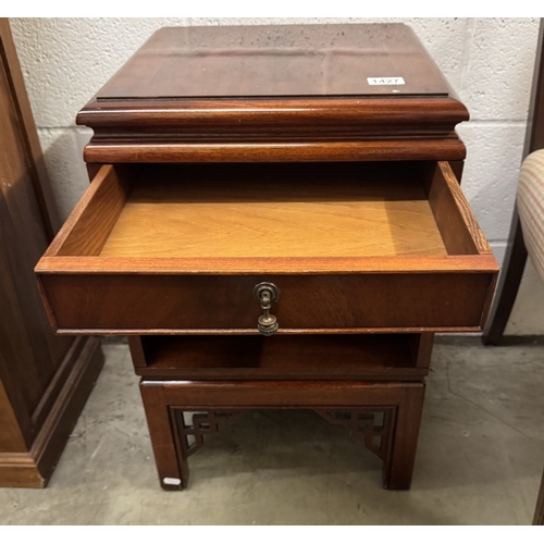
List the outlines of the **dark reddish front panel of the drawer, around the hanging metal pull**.
{"type": "Polygon", "coordinates": [[[254,286],[281,290],[283,332],[480,330],[491,274],[46,275],[59,332],[258,332],[254,286]],[[218,331],[220,330],[220,331],[218,331]]]}

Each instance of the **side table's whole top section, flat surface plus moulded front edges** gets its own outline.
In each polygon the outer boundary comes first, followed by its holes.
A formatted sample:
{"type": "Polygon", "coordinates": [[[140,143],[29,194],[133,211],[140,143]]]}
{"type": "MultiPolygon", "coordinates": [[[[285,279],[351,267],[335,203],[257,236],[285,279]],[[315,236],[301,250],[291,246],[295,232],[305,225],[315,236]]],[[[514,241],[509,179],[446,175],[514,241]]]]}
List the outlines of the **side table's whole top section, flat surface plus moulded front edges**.
{"type": "Polygon", "coordinates": [[[405,25],[274,25],[159,30],[77,123],[87,162],[271,162],[462,160],[468,119],[405,25]]]}

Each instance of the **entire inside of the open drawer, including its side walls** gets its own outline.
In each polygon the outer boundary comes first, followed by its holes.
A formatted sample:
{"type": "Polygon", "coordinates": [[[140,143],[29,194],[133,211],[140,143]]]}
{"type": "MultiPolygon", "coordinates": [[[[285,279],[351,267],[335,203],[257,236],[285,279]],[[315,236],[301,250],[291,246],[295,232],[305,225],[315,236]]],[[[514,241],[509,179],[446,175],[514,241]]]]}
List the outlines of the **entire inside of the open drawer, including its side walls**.
{"type": "Polygon", "coordinates": [[[483,236],[479,239],[478,227],[474,233],[466,221],[453,194],[457,182],[443,164],[109,166],[57,255],[226,259],[477,255],[479,244],[486,244],[483,236]]]}

